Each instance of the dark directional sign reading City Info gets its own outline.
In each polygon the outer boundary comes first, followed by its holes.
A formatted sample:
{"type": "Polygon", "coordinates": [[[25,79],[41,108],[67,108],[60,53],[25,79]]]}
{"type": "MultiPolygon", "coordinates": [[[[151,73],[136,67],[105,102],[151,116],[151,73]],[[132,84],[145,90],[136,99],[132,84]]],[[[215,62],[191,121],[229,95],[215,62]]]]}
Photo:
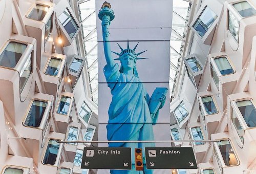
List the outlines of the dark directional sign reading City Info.
{"type": "Polygon", "coordinates": [[[81,168],[132,169],[130,147],[84,147],[81,168]]]}

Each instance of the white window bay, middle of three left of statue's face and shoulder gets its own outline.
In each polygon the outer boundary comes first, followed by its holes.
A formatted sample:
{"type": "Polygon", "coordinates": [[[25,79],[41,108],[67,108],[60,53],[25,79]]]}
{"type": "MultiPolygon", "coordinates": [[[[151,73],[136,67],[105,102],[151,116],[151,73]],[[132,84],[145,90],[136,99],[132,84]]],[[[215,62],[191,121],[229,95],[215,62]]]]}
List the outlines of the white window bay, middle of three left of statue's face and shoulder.
{"type": "Polygon", "coordinates": [[[48,59],[44,73],[41,73],[46,92],[54,96],[54,101],[62,91],[66,56],[54,53],[48,59]]]}

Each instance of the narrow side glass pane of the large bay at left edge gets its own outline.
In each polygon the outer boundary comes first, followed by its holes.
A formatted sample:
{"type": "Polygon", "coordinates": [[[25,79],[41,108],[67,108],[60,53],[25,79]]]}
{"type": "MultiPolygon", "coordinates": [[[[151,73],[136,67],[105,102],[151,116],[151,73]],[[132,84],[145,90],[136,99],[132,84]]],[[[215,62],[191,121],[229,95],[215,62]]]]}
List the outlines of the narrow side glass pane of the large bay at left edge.
{"type": "Polygon", "coordinates": [[[28,57],[28,59],[26,60],[22,70],[20,70],[20,73],[19,73],[19,81],[20,81],[20,85],[19,85],[19,88],[20,88],[20,91],[23,90],[30,74],[31,74],[31,54],[30,56],[28,57]]]}

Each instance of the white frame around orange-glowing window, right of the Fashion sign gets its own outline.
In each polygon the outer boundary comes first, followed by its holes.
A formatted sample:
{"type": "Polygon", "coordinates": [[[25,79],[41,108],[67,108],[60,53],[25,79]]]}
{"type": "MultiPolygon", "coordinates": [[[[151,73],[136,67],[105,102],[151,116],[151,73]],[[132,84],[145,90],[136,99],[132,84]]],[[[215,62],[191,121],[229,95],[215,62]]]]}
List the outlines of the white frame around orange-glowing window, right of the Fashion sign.
{"type": "Polygon", "coordinates": [[[217,163],[218,163],[219,169],[221,170],[221,173],[223,173],[223,168],[239,166],[240,165],[240,160],[238,158],[237,150],[234,148],[234,145],[233,145],[232,141],[229,138],[221,138],[221,139],[218,139],[218,140],[220,140],[220,141],[221,140],[228,140],[229,141],[229,143],[230,143],[230,145],[231,145],[231,147],[234,151],[234,155],[236,156],[236,159],[238,161],[238,164],[236,164],[236,165],[229,165],[229,166],[225,165],[225,162],[224,162],[224,160],[222,158],[222,155],[221,155],[221,152],[220,152],[218,142],[214,142],[214,145],[213,145],[214,153],[213,154],[216,156],[215,158],[217,160],[217,163]],[[218,162],[218,160],[219,160],[220,163],[218,162]]]}

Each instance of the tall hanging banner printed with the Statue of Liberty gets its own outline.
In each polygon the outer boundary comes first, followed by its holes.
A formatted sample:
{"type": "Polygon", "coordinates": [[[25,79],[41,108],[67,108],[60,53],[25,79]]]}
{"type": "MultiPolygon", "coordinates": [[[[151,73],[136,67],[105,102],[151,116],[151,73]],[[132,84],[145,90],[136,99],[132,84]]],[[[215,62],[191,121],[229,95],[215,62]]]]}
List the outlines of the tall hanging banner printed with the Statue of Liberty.
{"type": "MultiPolygon", "coordinates": [[[[169,64],[172,1],[96,1],[99,73],[98,140],[170,140],[169,64]],[[104,3],[104,4],[103,4],[104,3]],[[103,6],[102,6],[103,4],[103,6]]],[[[170,144],[109,143],[143,149],[170,144]]],[[[98,173],[170,170],[98,170],[98,173]]]]}

